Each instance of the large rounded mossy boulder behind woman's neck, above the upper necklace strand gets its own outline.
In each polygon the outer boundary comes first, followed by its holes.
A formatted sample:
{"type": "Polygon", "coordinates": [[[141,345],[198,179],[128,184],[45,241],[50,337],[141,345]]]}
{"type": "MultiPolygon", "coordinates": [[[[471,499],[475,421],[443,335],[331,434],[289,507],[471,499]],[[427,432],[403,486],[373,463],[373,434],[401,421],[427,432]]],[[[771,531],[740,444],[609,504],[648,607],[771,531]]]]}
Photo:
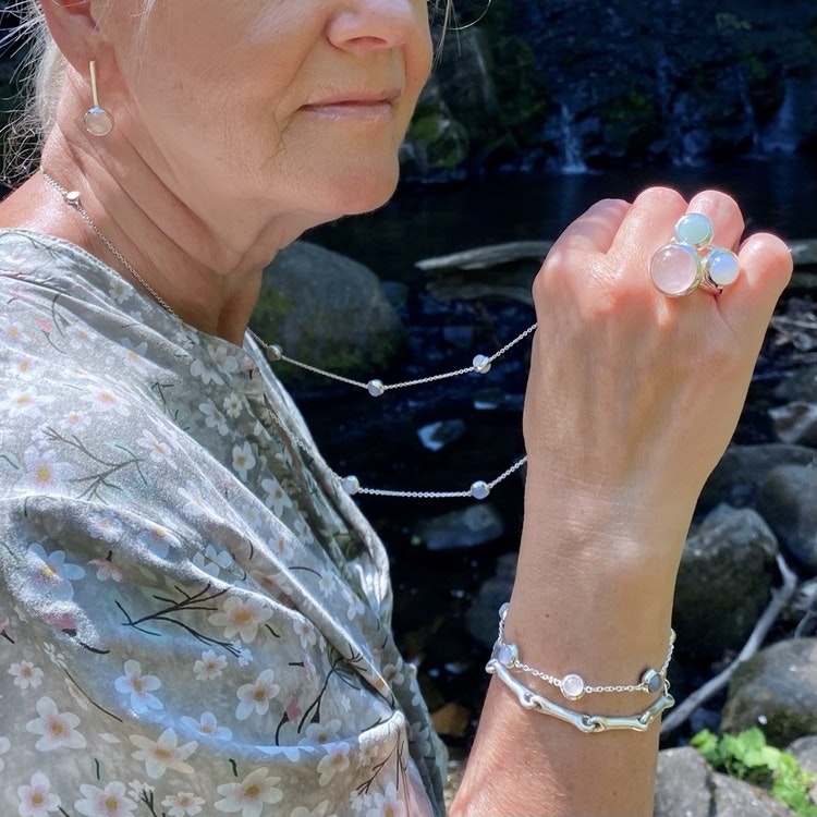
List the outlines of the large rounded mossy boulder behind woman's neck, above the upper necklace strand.
{"type": "MultiPolygon", "coordinates": [[[[362,264],[298,241],[264,271],[251,326],[284,354],[351,377],[370,377],[394,362],[406,342],[377,277],[362,264]]],[[[289,364],[276,365],[288,385],[328,381],[289,364]]]]}

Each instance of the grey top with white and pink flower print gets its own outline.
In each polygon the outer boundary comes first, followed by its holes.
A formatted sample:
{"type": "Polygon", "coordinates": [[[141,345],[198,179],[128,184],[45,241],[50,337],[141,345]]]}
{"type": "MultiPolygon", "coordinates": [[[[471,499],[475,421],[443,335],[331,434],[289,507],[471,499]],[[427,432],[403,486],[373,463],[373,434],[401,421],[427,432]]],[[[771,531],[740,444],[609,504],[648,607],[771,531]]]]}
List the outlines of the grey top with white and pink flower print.
{"type": "Polygon", "coordinates": [[[0,814],[442,814],[383,548],[257,346],[0,231],[0,814]]]}

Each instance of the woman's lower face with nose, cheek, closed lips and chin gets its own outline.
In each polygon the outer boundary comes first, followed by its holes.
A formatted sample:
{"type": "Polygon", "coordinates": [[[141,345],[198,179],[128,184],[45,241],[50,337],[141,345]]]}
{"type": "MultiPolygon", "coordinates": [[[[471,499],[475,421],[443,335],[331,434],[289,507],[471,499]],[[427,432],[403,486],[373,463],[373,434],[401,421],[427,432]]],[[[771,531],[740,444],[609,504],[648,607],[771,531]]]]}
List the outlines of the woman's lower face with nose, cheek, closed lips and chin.
{"type": "Polygon", "coordinates": [[[197,216],[317,223],[391,195],[430,70],[426,0],[157,0],[144,21],[141,8],[107,4],[100,101],[197,216]]]}

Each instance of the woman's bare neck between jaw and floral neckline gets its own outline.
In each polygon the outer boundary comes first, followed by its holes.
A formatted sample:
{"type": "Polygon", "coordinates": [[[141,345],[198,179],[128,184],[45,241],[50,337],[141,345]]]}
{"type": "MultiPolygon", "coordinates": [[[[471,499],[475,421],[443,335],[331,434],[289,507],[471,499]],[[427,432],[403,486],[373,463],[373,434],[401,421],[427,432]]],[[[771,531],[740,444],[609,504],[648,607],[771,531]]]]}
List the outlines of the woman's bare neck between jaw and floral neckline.
{"type": "Polygon", "coordinates": [[[60,186],[80,192],[94,225],[137,279],[41,173],[0,205],[0,223],[59,235],[88,249],[134,285],[158,294],[185,322],[240,344],[264,267],[312,224],[283,215],[252,223],[242,214],[208,223],[135,150],[117,147],[125,158],[111,166],[110,153],[69,146],[58,127],[45,146],[42,169],[60,186]]]}

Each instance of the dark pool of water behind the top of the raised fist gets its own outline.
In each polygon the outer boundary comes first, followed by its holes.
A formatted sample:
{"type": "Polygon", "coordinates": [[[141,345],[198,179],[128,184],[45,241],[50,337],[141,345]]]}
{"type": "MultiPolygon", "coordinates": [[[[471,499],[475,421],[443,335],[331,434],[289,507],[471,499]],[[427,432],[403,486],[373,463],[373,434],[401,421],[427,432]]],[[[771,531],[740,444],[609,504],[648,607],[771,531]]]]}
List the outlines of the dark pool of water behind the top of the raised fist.
{"type": "MultiPolygon", "coordinates": [[[[817,237],[817,157],[775,155],[693,168],[650,167],[584,175],[508,175],[406,187],[377,212],[310,233],[385,280],[414,281],[414,261],[508,241],[554,239],[599,198],[632,200],[669,185],[685,196],[717,187],[740,202],[747,229],[817,237]]],[[[307,236],[309,237],[309,236],[307,236]]]]}

